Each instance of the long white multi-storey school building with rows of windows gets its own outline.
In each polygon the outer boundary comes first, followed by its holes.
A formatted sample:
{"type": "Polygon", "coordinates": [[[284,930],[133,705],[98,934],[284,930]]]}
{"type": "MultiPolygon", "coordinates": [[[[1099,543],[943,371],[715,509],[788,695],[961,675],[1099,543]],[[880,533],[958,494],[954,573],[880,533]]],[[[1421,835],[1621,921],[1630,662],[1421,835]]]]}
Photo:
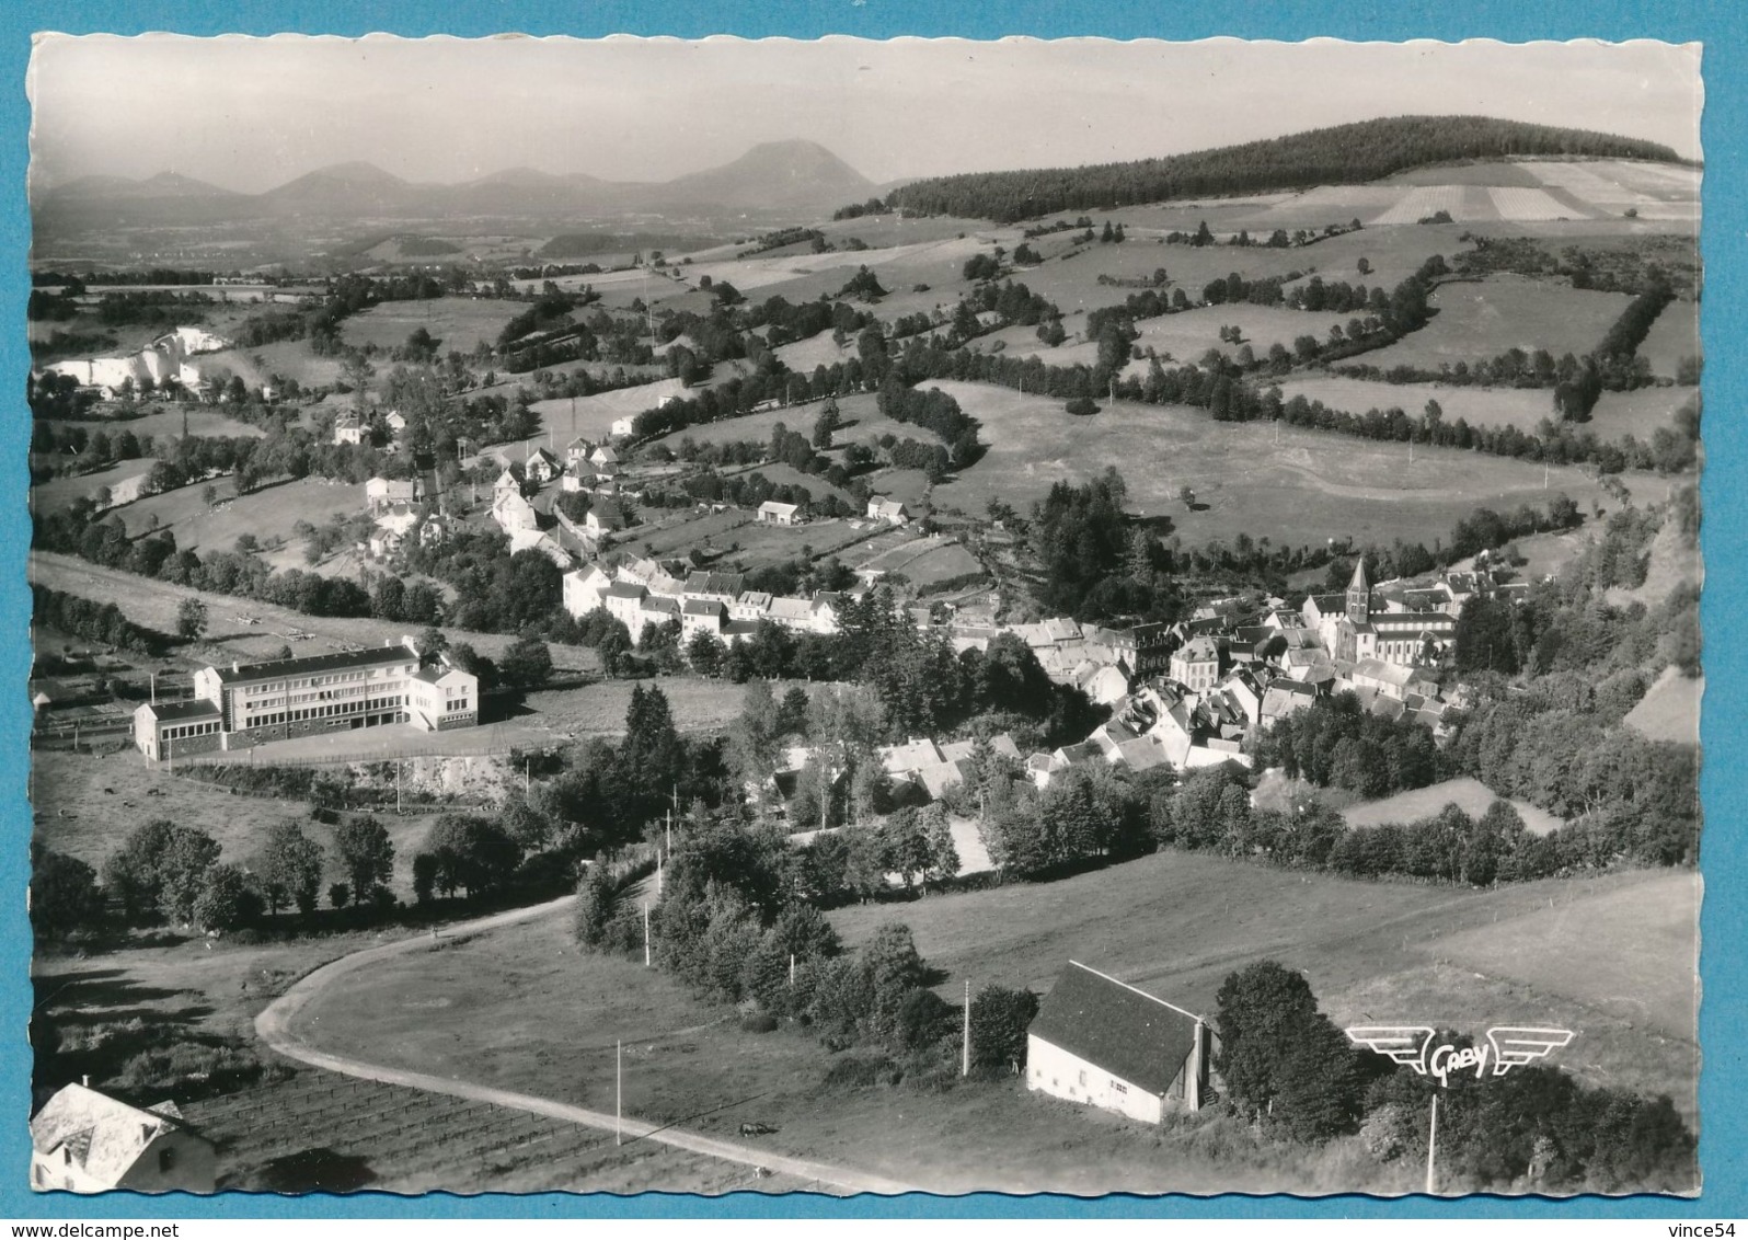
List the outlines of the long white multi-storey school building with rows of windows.
{"type": "Polygon", "coordinates": [[[194,673],[192,701],[133,712],[133,742],[157,761],[353,728],[447,731],[477,722],[479,680],[447,665],[423,666],[407,638],[344,654],[203,668],[194,673]]]}

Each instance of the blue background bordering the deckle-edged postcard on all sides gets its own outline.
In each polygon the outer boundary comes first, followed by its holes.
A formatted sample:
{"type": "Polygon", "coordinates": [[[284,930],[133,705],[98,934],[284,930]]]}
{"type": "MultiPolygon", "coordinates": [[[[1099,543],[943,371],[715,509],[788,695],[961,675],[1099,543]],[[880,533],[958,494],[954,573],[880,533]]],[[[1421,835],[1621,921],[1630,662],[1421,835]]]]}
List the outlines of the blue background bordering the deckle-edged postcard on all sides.
{"type": "MultiPolygon", "coordinates": [[[[1152,1217],[1696,1217],[1724,1219],[1745,1216],[1748,1202],[1748,1167],[1743,1109],[1745,1041],[1741,1028],[1739,981],[1745,964],[1738,955],[1743,943],[1743,918],[1748,897],[1736,881],[1743,874],[1745,848],[1738,831],[1738,810],[1745,796],[1743,770],[1736,766],[1731,736],[1741,735],[1745,651],[1741,649],[1743,602],[1741,572],[1734,560],[1736,533],[1745,528],[1743,495],[1734,483],[1743,477],[1745,434],[1736,418],[1741,408],[1743,359],[1727,341],[1743,331],[1743,241],[1748,238],[1748,206],[1743,178],[1745,122],[1743,35],[1748,23],[1732,10],[1731,0],[1717,3],[1620,3],[1587,0],[1582,3],[1550,0],[1397,0],[1393,3],[1341,0],[1287,0],[1269,3],[916,3],[893,0],[837,0],[832,3],[741,3],[711,0],[643,0],[640,3],[509,3],[505,0],[444,0],[442,3],[344,3],[302,0],[271,3],[266,0],[178,0],[177,3],[112,0],[108,3],[52,3],[47,0],[10,0],[0,3],[0,366],[3,388],[14,394],[14,414],[0,418],[0,633],[12,635],[0,644],[0,792],[5,846],[0,848],[0,888],[9,899],[0,904],[0,1027],[7,1030],[7,1053],[0,1058],[0,1217],[565,1217],[565,1216],[1152,1216],[1152,1217]],[[1290,1198],[1133,1198],[1113,1196],[1077,1200],[1065,1196],[1010,1198],[979,1195],[967,1198],[832,1200],[815,1196],[766,1198],[738,1195],[729,1198],[694,1198],[645,1195],[614,1196],[481,1196],[456,1198],[432,1195],[397,1198],[358,1195],[348,1198],[271,1198],[229,1195],[222,1198],[145,1198],[112,1195],[73,1198],[38,1196],[26,1188],[30,1135],[30,1048],[24,1030],[31,1004],[28,986],[30,929],[24,920],[28,881],[26,841],[30,806],[24,799],[30,768],[30,703],[24,680],[30,668],[30,595],[24,588],[24,554],[30,544],[26,509],[24,453],[30,416],[19,399],[30,359],[24,350],[24,299],[28,294],[26,255],[30,215],[24,201],[28,164],[30,105],[24,98],[24,70],[30,37],[37,30],[65,33],[142,33],[170,30],[187,35],[252,33],[281,30],[306,33],[364,35],[392,31],[399,35],[449,33],[463,37],[493,35],[507,30],[531,35],[601,37],[633,35],[741,35],[748,38],[787,35],[860,35],[891,38],[897,35],[961,35],[998,38],[1031,35],[1040,38],[1103,35],[1110,38],[1206,38],[1234,35],[1243,38],[1301,40],[1337,37],[1355,40],[1404,38],[1500,38],[1528,42],[1536,38],[1659,38],[1668,42],[1704,42],[1704,233],[1706,259],[1704,313],[1704,395],[1706,395],[1706,474],[1703,484],[1706,553],[1706,589],[1701,617],[1706,635],[1706,684],[1703,740],[1708,761],[1701,777],[1706,805],[1706,834],[1701,866],[1706,874],[1706,899],[1701,916],[1704,939],[1701,974],[1704,1004],[1699,1028],[1704,1049],[1701,1077],[1701,1163],[1706,1189],[1699,1200],[1671,1198],[1575,1198],[1566,1202],[1467,1198],[1430,1202],[1407,1198],[1384,1202],[1363,1196],[1290,1198]]],[[[1379,100],[1379,110],[1390,107],[1379,100]]],[[[1292,128],[1283,122],[1283,128],[1292,128]]]]}

